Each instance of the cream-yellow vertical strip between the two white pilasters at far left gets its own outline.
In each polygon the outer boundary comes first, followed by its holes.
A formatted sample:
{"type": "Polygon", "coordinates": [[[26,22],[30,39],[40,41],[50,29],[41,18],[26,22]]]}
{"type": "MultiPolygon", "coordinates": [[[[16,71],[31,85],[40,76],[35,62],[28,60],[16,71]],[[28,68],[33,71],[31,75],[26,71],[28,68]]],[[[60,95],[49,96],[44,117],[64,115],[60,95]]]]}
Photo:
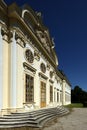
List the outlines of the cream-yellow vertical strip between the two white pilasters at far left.
{"type": "Polygon", "coordinates": [[[7,29],[2,28],[2,40],[3,40],[3,109],[7,109],[10,105],[9,96],[9,44],[8,44],[8,32],[7,29]]]}

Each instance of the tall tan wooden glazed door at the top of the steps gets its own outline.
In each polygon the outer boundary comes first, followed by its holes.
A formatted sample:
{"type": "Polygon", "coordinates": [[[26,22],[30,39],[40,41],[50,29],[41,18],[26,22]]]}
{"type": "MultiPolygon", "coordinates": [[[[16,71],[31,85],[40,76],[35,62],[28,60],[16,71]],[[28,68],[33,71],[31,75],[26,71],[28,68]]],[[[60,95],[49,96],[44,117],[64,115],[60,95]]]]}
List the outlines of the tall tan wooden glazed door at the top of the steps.
{"type": "Polygon", "coordinates": [[[46,83],[41,81],[41,99],[40,99],[40,106],[46,107],[46,83]]]}

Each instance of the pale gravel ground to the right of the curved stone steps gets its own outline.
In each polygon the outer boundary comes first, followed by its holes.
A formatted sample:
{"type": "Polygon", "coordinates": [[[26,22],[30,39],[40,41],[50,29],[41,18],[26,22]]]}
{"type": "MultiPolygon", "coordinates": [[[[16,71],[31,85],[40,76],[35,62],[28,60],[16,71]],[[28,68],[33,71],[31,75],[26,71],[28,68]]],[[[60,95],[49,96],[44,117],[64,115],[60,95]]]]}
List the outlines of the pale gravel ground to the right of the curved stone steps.
{"type": "Polygon", "coordinates": [[[74,108],[69,115],[48,122],[42,130],[87,130],[87,108],[74,108]]]}

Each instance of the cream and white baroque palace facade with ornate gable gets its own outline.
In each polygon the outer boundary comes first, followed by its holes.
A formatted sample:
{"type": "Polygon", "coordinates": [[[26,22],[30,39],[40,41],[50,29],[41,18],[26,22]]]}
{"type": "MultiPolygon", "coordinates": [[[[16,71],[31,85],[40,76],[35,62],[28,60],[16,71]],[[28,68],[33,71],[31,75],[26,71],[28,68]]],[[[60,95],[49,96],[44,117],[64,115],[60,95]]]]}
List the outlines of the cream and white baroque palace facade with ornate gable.
{"type": "Polygon", "coordinates": [[[39,12],[0,1],[1,113],[71,103],[71,85],[57,69],[54,46],[39,12]]]}

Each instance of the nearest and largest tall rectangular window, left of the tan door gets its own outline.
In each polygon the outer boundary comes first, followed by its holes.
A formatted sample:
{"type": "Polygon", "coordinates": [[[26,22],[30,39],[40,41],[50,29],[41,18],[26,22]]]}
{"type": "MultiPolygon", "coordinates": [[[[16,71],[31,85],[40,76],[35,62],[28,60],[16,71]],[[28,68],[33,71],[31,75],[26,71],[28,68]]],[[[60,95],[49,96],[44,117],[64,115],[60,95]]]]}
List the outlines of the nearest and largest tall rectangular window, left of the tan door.
{"type": "Polygon", "coordinates": [[[25,92],[25,101],[33,102],[34,101],[34,78],[28,74],[25,75],[26,77],[26,92],[25,92]]]}

